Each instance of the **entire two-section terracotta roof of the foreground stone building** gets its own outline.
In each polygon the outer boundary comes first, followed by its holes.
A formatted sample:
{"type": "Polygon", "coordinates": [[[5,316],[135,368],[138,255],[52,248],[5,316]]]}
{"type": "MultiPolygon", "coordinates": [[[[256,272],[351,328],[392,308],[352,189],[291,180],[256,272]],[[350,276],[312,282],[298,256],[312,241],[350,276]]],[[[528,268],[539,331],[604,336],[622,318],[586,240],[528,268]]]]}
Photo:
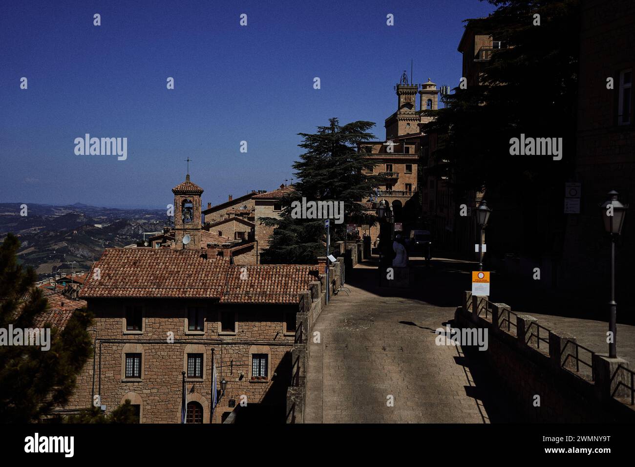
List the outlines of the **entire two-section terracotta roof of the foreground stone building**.
{"type": "Polygon", "coordinates": [[[93,264],[79,295],[84,299],[216,298],[222,303],[291,304],[318,277],[316,265],[230,266],[229,259],[207,260],[199,250],[107,248],[93,264]],[[99,280],[93,275],[96,267],[99,280]],[[241,279],[243,271],[245,279],[241,279]]]}

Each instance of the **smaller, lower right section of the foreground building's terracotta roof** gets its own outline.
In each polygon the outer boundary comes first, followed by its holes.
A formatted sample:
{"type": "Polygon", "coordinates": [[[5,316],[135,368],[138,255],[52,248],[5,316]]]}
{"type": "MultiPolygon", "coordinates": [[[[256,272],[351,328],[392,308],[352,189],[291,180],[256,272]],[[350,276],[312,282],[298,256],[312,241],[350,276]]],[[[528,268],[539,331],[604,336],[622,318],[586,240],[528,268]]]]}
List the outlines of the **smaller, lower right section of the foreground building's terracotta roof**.
{"type": "Polygon", "coordinates": [[[298,264],[258,264],[230,266],[221,303],[298,302],[298,294],[318,280],[318,266],[298,264]],[[241,274],[246,278],[241,279],[241,274]]]}

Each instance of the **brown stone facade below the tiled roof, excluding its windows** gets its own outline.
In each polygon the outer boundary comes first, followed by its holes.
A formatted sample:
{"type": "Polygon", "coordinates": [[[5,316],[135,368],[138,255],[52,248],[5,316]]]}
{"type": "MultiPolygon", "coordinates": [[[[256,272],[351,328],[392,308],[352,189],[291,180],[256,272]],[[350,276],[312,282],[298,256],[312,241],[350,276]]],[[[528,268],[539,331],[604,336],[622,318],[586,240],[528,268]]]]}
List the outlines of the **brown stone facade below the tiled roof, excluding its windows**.
{"type": "Polygon", "coordinates": [[[297,306],[219,305],[213,301],[138,301],[144,308],[143,332],[124,331],[124,304],[118,299],[93,299],[88,308],[95,313],[91,334],[95,337],[95,358],[77,378],[74,394],[65,409],[85,409],[94,395],[101,396],[109,414],[126,398],[140,405],[142,423],[180,423],[182,372],[187,370],[187,353],[203,353],[203,378],[187,379],[188,401],[203,406],[203,421],[210,423],[211,362],[217,367],[217,388],[225,378],[227,389],[215,411],[220,422],[229,407],[241,397],[246,402],[280,407],[291,383],[291,348],[294,335],[286,333],[284,313],[296,313],[297,306]],[[204,308],[204,331],[187,331],[187,306],[204,308]],[[236,332],[219,331],[220,312],[236,313],[236,332]],[[174,342],[168,342],[173,333],[174,342]],[[142,377],[125,379],[124,354],[142,353],[142,377]],[[269,355],[269,377],[251,379],[251,355],[269,355]],[[244,400],[244,398],[243,398],[244,400]]]}

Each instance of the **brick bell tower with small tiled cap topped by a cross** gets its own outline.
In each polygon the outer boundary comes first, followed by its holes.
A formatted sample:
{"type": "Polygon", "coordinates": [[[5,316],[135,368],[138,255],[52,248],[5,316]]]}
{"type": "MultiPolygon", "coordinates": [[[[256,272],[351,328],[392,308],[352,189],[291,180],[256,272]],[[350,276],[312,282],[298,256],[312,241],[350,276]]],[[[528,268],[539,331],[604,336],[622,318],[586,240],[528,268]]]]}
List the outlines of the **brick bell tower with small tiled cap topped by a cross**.
{"type": "Polygon", "coordinates": [[[190,174],[185,182],[172,189],[174,193],[174,248],[177,250],[198,250],[201,248],[201,194],[203,189],[190,182],[190,174]]]}

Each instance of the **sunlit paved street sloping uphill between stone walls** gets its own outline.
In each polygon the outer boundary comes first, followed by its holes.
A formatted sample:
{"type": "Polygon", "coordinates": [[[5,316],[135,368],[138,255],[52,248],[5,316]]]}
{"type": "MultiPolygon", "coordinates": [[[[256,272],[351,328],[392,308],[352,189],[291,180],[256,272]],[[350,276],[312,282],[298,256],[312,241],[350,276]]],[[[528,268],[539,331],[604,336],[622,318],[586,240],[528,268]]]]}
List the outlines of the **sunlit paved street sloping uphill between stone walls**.
{"type": "MultiPolygon", "coordinates": [[[[456,273],[448,264],[447,273],[456,273]]],[[[443,292],[456,293],[448,287],[456,281],[415,268],[413,283],[423,287],[379,289],[377,269],[369,266],[349,274],[351,295],[334,297],[316,323],[321,344],[310,344],[305,422],[509,421],[505,398],[483,365],[458,347],[435,344],[434,330],[456,307],[434,302],[443,292]]],[[[458,302],[460,295],[453,298],[458,302]]]]}

